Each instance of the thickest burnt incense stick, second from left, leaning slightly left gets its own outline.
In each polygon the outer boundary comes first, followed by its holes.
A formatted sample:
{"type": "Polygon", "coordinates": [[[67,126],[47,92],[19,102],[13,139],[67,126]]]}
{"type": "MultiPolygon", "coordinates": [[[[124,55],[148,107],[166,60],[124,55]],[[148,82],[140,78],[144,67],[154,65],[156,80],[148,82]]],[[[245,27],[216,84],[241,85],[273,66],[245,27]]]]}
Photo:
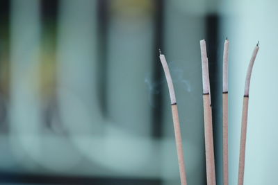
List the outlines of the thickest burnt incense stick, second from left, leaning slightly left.
{"type": "Polygon", "coordinates": [[[208,185],[215,185],[215,161],[213,150],[213,125],[211,112],[211,89],[209,85],[208,58],[206,55],[206,42],[200,41],[202,55],[202,78],[204,100],[204,137],[206,147],[206,181],[208,185]]]}

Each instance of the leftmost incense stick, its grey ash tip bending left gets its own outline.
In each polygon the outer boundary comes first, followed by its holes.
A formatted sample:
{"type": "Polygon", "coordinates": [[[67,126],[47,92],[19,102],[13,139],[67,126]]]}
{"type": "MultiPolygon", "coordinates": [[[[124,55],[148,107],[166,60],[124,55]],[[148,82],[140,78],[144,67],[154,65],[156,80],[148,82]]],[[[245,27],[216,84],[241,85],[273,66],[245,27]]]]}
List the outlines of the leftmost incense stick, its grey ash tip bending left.
{"type": "Polygon", "coordinates": [[[176,139],[176,146],[177,146],[177,155],[179,161],[179,174],[181,177],[181,185],[187,185],[186,182],[186,168],[183,159],[183,146],[182,146],[182,139],[181,139],[181,127],[179,125],[179,114],[178,114],[178,107],[177,107],[177,100],[174,94],[174,85],[172,82],[172,78],[170,75],[170,71],[165,59],[165,55],[161,54],[161,50],[159,50],[159,58],[161,59],[161,64],[164,69],[164,73],[167,80],[167,85],[170,93],[171,99],[171,107],[172,107],[172,116],[173,116],[173,123],[174,123],[174,136],[176,139]]]}

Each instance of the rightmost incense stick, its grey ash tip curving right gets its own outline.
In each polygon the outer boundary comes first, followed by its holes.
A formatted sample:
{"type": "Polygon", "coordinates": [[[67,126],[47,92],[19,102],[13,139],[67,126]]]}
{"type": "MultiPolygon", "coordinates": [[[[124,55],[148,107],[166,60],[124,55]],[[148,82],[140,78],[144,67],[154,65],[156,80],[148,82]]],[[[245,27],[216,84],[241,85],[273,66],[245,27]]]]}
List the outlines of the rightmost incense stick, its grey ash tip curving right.
{"type": "Polygon", "coordinates": [[[256,59],[256,54],[259,51],[259,42],[256,44],[252,58],[249,63],[246,80],[245,80],[245,91],[243,97],[243,116],[241,120],[241,136],[240,136],[240,154],[239,154],[239,165],[238,165],[238,185],[243,185],[244,179],[244,168],[245,168],[245,145],[246,145],[246,132],[247,132],[247,116],[248,116],[248,102],[249,102],[249,89],[251,73],[256,59]]]}

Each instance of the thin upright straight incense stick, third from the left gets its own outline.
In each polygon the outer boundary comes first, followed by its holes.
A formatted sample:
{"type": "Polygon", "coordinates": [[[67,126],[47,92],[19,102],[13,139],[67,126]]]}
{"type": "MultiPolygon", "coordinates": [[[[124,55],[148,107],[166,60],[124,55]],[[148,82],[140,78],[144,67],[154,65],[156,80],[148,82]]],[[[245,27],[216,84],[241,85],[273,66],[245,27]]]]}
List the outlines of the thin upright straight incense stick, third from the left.
{"type": "Polygon", "coordinates": [[[223,51],[223,182],[229,185],[229,149],[228,149],[228,58],[229,58],[229,40],[224,42],[223,51]]]}

